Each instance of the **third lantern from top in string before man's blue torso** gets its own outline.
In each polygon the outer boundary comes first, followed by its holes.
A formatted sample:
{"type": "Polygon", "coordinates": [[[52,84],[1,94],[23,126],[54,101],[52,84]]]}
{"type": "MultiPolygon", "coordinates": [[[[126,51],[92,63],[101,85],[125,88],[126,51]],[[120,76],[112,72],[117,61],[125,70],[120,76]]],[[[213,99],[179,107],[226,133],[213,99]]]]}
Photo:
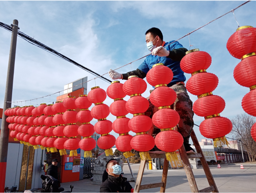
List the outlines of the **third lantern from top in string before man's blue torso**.
{"type": "Polygon", "coordinates": [[[155,112],[152,117],[153,124],[160,129],[173,128],[179,120],[178,112],[170,108],[162,108],[155,112]]]}

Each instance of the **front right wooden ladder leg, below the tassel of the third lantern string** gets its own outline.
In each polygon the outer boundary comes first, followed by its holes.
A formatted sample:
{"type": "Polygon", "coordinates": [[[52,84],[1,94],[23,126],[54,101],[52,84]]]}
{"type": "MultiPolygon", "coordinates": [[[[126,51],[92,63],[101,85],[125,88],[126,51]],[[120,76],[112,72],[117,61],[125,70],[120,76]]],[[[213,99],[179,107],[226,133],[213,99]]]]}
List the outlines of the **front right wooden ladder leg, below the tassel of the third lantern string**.
{"type": "MultiPolygon", "coordinates": [[[[178,126],[175,126],[174,130],[179,132],[178,126]]],[[[191,169],[191,166],[190,166],[190,163],[189,163],[189,160],[188,160],[188,157],[187,157],[187,153],[186,153],[186,150],[185,150],[185,147],[184,147],[183,144],[182,144],[181,148],[179,148],[179,152],[180,152],[180,157],[181,157],[182,162],[183,162],[184,169],[186,171],[186,175],[187,175],[188,183],[190,185],[191,192],[198,192],[198,187],[196,185],[196,180],[195,180],[193,171],[191,169]]]]}

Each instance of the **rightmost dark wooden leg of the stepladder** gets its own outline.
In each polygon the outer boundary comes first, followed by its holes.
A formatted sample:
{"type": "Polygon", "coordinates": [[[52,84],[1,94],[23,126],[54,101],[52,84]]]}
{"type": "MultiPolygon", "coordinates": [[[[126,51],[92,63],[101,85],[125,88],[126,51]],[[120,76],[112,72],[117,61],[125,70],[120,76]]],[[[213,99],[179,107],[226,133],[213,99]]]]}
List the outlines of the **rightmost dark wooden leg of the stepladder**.
{"type": "Polygon", "coordinates": [[[198,143],[197,137],[196,137],[195,132],[194,132],[193,129],[192,129],[192,131],[191,131],[190,136],[191,136],[191,139],[192,139],[192,141],[193,141],[193,143],[194,143],[194,146],[195,146],[195,148],[196,148],[196,151],[197,151],[198,153],[201,153],[201,155],[202,155],[202,157],[200,158],[200,161],[201,161],[201,163],[202,163],[202,167],[203,167],[203,169],[204,169],[204,172],[205,172],[205,175],[206,175],[206,178],[207,178],[207,180],[208,180],[209,185],[210,185],[210,186],[214,186],[215,191],[213,191],[213,192],[219,192],[219,191],[218,191],[218,188],[217,188],[217,186],[216,186],[216,184],[215,184],[215,181],[214,181],[214,179],[213,179],[213,176],[212,176],[212,173],[211,173],[211,171],[210,171],[210,168],[209,168],[209,166],[208,166],[208,164],[207,164],[207,162],[206,162],[206,159],[205,159],[205,157],[204,157],[204,155],[203,155],[202,149],[201,149],[201,147],[200,147],[200,144],[198,143]]]}

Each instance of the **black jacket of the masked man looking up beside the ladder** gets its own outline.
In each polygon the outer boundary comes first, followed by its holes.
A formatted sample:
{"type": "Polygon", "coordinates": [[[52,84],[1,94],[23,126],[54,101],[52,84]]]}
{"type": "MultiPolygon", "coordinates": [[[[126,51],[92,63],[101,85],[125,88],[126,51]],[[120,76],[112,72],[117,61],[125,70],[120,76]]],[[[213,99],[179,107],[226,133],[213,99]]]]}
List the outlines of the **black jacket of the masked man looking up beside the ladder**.
{"type": "Polygon", "coordinates": [[[131,192],[132,186],[124,177],[108,175],[108,179],[100,186],[100,192],[131,192]]]}

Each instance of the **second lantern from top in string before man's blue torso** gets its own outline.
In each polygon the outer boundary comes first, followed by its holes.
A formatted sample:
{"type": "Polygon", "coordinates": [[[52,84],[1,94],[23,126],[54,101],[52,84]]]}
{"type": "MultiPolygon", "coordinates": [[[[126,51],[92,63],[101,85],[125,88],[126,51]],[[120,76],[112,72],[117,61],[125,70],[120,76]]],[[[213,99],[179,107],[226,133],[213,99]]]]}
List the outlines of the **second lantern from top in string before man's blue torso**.
{"type": "Polygon", "coordinates": [[[150,102],[157,107],[169,106],[176,98],[176,92],[167,86],[160,86],[150,93],[150,102]]]}

